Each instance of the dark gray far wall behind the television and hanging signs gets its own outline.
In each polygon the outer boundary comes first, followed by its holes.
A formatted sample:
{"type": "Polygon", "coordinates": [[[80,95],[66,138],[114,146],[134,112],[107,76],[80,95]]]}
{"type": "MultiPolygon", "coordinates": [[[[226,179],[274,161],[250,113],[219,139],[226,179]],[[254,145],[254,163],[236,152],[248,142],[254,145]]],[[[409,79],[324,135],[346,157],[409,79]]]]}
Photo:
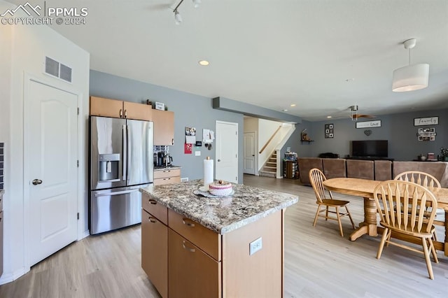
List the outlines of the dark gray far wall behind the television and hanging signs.
{"type": "MultiPolygon", "coordinates": [[[[306,155],[299,154],[299,156],[317,157],[322,152],[333,152],[344,157],[350,154],[350,141],[363,140],[388,140],[388,157],[395,160],[412,160],[428,152],[433,152],[437,156],[440,154],[441,147],[448,146],[448,109],[381,115],[374,119],[358,120],[358,122],[369,120],[381,120],[381,127],[370,128],[372,130],[370,136],[364,134],[366,129],[356,129],[356,121],[350,119],[309,122],[311,129],[307,132],[315,141],[309,145],[311,152],[303,150],[302,152],[306,152],[306,155]],[[439,117],[439,125],[414,127],[414,118],[434,116],[439,117]],[[333,139],[325,139],[324,129],[325,124],[328,123],[334,125],[333,139]],[[418,141],[416,133],[419,128],[425,127],[435,128],[437,133],[435,141],[418,141]]],[[[304,123],[302,122],[302,126],[304,123]]]]}

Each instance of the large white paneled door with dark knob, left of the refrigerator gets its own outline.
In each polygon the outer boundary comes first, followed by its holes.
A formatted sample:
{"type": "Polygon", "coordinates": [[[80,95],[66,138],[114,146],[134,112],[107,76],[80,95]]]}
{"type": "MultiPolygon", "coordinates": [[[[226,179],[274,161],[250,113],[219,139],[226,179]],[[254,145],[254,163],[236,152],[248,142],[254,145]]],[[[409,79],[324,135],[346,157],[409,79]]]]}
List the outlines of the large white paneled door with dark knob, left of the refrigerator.
{"type": "Polygon", "coordinates": [[[32,266],[76,241],[78,97],[29,80],[25,103],[32,266]]]}

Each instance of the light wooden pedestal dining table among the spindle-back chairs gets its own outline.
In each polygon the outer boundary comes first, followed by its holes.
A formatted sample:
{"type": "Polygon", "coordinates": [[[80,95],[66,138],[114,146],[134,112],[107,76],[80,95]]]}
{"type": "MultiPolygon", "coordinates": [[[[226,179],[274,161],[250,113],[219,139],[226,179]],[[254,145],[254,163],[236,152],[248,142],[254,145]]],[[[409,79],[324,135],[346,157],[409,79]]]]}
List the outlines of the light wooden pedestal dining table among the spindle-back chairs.
{"type": "MultiPolygon", "coordinates": [[[[323,185],[327,190],[364,198],[364,221],[360,222],[359,227],[351,233],[351,241],[355,241],[365,234],[378,236],[378,232],[383,230],[382,227],[377,225],[377,206],[373,198],[374,189],[379,183],[381,181],[358,178],[332,178],[323,181],[323,185]]],[[[437,199],[437,208],[443,209],[445,213],[444,222],[442,223],[444,226],[444,239],[443,242],[433,241],[434,246],[435,249],[442,250],[444,255],[448,256],[448,188],[434,187],[430,191],[433,192],[437,199]]],[[[412,239],[405,240],[412,241],[412,239]]]]}

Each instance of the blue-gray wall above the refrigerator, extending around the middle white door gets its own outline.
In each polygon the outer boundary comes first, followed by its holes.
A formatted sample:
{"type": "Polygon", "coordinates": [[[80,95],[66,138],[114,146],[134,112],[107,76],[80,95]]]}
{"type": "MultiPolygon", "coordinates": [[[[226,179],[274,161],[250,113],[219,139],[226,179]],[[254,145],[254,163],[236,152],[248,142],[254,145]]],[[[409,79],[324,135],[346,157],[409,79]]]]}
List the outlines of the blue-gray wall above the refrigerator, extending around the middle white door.
{"type": "Polygon", "coordinates": [[[169,146],[173,164],[182,166],[182,177],[202,179],[204,176],[203,160],[210,156],[215,159],[215,145],[212,150],[204,146],[193,148],[193,154],[183,153],[185,143],[185,127],[196,127],[197,140],[202,141],[202,129],[216,131],[216,120],[238,123],[239,134],[239,169],[238,182],[243,182],[243,115],[212,108],[211,99],[189,94],[166,87],[139,82],[113,76],[99,71],[90,71],[90,95],[146,103],[146,99],[160,101],[174,112],[174,146],[169,146]],[[195,156],[195,150],[201,151],[201,156],[195,156]]]}

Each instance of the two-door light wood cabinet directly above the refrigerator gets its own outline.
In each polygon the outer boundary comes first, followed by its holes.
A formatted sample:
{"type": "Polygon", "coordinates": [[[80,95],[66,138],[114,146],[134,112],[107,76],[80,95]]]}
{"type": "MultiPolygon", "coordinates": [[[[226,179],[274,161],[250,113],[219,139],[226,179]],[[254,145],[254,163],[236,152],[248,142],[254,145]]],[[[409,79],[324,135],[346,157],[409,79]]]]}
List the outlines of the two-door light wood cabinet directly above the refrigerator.
{"type": "Polygon", "coordinates": [[[90,97],[90,115],[152,121],[151,106],[130,101],[90,97]]]}

